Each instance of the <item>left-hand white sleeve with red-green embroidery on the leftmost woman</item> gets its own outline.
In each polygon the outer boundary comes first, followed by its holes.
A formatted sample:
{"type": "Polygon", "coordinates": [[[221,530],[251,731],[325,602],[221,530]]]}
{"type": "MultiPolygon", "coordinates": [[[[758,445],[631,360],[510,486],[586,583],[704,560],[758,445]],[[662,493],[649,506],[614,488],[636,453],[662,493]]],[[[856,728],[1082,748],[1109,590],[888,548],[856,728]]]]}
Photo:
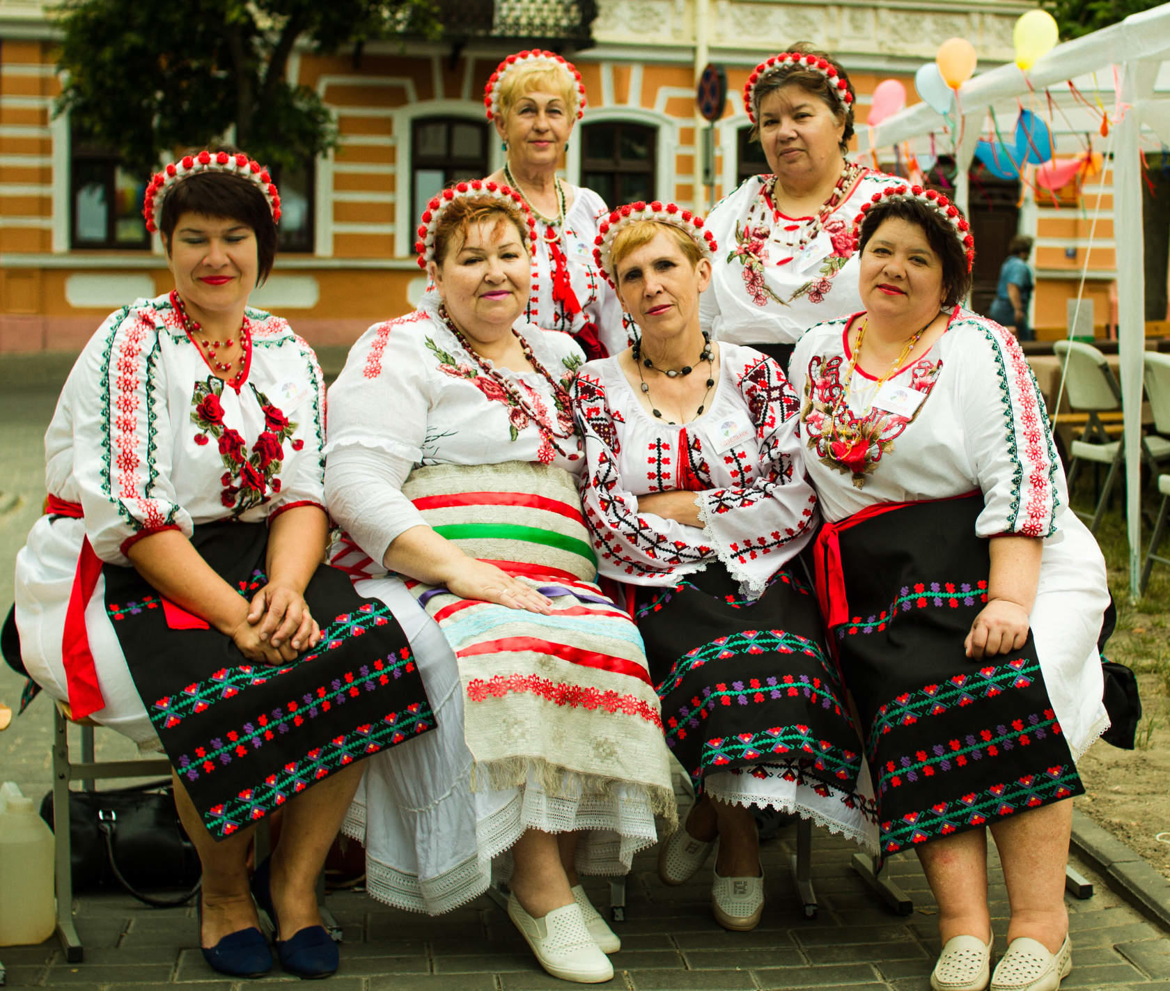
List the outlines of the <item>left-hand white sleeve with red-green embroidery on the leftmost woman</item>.
{"type": "Polygon", "coordinates": [[[102,324],[66,390],[75,402],[73,476],[97,556],[126,565],[126,550],[143,537],[160,530],[190,537],[191,516],[171,483],[166,364],[149,303],[102,324]]]}

